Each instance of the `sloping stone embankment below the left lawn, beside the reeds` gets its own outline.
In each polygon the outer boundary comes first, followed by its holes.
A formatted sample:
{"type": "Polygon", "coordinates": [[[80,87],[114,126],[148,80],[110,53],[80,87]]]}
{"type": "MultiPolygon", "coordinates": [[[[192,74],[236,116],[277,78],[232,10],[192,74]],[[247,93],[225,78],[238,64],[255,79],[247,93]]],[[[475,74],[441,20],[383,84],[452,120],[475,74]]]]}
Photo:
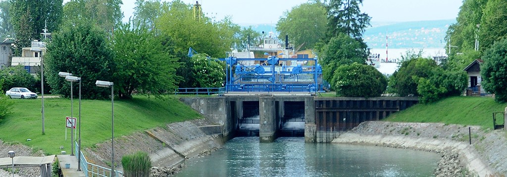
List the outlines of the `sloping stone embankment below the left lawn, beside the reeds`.
{"type": "MultiPolygon", "coordinates": [[[[216,131],[219,129],[206,128],[209,125],[212,123],[206,119],[177,122],[115,138],[115,169],[123,170],[123,155],[144,151],[150,154],[154,166],[150,176],[174,174],[184,166],[185,160],[222,147],[222,135],[216,131]]],[[[88,162],[109,167],[111,141],[86,148],[83,153],[88,162]]]]}

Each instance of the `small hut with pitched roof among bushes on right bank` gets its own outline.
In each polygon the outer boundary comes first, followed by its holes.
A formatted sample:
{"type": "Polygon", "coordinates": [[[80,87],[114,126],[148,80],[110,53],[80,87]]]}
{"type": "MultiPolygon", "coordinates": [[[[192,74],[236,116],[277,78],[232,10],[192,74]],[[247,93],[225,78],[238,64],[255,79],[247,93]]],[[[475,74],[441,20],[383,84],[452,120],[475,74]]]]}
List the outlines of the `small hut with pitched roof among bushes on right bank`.
{"type": "Polygon", "coordinates": [[[468,75],[467,96],[479,96],[485,93],[484,88],[481,87],[481,63],[481,59],[476,59],[463,69],[468,75]]]}

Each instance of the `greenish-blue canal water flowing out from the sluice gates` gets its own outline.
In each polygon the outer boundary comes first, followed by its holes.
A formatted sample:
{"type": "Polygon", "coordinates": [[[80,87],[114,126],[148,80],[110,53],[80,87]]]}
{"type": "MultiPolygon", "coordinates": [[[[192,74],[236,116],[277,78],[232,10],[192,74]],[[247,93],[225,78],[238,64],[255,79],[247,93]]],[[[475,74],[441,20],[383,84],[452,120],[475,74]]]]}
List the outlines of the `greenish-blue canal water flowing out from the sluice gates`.
{"type": "Polygon", "coordinates": [[[375,146],[312,144],[304,137],[236,137],[193,158],[176,176],[433,176],[436,153],[375,146]]]}

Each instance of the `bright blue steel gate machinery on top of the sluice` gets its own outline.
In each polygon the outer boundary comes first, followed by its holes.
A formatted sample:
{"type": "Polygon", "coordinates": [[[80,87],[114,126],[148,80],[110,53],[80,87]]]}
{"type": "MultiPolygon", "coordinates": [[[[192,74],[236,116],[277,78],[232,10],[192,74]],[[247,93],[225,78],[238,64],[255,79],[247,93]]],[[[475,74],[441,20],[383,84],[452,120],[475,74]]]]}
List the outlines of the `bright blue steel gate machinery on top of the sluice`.
{"type": "Polygon", "coordinates": [[[323,91],[322,68],[318,64],[317,58],[278,58],[277,56],[269,56],[267,58],[227,57],[220,60],[226,61],[227,65],[226,91],[323,91]],[[298,64],[280,64],[288,63],[286,61],[298,64]]]}

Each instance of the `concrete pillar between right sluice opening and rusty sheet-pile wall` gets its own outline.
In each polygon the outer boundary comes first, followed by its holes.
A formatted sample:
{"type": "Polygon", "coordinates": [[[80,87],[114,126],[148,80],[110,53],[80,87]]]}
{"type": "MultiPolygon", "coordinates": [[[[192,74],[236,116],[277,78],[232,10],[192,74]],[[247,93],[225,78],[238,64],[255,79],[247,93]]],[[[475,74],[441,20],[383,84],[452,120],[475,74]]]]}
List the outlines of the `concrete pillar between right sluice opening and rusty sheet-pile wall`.
{"type": "Polygon", "coordinates": [[[315,101],[313,97],[305,97],[305,143],[316,143],[316,137],[315,101]]]}

